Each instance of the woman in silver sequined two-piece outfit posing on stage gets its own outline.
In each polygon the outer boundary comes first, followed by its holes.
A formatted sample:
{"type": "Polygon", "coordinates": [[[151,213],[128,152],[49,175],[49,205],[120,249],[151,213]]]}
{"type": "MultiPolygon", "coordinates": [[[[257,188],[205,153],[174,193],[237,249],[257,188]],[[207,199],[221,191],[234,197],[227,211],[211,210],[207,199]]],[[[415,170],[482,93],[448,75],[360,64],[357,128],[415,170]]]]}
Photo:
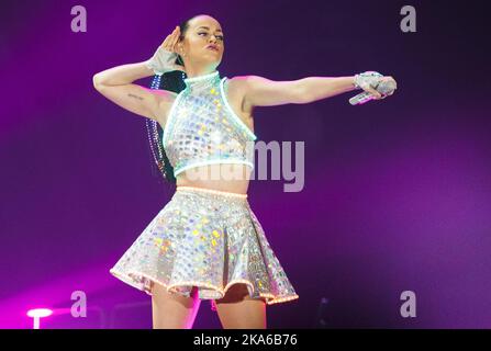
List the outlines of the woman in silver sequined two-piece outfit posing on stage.
{"type": "Polygon", "coordinates": [[[163,131],[158,168],[176,192],[110,272],[152,296],[154,328],[192,328],[209,299],[223,328],[266,328],[266,305],[299,298],[247,200],[256,106],[304,104],[356,89],[379,100],[392,77],[272,81],[221,77],[224,32],[210,15],[176,26],[148,60],[93,76],[105,98],[163,131]],[[180,79],[176,80],[178,73],[180,79]],[[186,77],[185,77],[186,75],[186,77]],[[153,89],[133,81],[154,77],[153,89]],[[161,82],[164,81],[161,88],[161,82]],[[231,171],[232,170],[232,171],[231,171]],[[233,174],[233,177],[231,177],[233,174]]]}

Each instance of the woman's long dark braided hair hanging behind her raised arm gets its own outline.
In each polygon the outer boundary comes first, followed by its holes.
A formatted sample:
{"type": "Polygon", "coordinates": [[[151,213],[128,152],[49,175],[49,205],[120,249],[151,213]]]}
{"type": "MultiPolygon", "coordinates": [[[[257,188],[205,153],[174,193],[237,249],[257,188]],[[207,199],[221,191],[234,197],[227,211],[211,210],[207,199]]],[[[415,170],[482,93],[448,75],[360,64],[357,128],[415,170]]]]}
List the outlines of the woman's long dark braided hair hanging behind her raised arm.
{"type": "MultiPolygon", "coordinates": [[[[186,32],[189,27],[189,21],[191,21],[192,19],[194,19],[194,16],[179,24],[179,41],[182,41],[185,38],[186,32]]],[[[182,60],[182,57],[180,55],[178,55],[178,57],[176,58],[176,64],[185,66],[185,61],[182,60]]],[[[186,72],[180,70],[165,72],[161,76],[155,75],[152,80],[150,89],[163,89],[179,93],[186,88],[186,72]]],[[[152,163],[154,167],[152,168],[152,173],[153,176],[163,176],[166,181],[176,183],[176,177],[174,177],[174,168],[170,165],[169,159],[167,158],[164,145],[161,143],[164,129],[155,120],[146,118],[145,121],[148,132],[148,140],[150,146],[149,148],[153,157],[152,163]]]]}

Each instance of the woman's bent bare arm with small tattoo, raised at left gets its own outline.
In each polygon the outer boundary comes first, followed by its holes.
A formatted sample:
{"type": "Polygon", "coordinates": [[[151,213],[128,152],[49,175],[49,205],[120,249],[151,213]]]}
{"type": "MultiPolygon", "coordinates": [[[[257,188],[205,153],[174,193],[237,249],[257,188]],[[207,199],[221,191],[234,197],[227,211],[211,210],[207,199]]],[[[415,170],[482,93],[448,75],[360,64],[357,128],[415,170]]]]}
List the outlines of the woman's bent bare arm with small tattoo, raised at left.
{"type": "Polygon", "coordinates": [[[137,79],[154,75],[145,63],[137,63],[109,68],[96,73],[92,80],[93,87],[115,104],[161,123],[160,104],[168,101],[171,93],[133,83],[137,79]]]}

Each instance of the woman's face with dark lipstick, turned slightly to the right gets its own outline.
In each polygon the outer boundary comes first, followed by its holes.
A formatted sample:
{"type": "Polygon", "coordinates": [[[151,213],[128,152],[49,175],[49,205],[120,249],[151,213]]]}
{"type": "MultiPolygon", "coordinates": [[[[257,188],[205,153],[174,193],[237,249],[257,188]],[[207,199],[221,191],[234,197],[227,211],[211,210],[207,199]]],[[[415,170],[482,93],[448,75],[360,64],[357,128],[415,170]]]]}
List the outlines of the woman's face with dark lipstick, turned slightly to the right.
{"type": "Polygon", "coordinates": [[[224,52],[223,32],[220,23],[215,19],[204,15],[192,19],[189,22],[182,45],[188,60],[213,63],[217,66],[224,52]]]}

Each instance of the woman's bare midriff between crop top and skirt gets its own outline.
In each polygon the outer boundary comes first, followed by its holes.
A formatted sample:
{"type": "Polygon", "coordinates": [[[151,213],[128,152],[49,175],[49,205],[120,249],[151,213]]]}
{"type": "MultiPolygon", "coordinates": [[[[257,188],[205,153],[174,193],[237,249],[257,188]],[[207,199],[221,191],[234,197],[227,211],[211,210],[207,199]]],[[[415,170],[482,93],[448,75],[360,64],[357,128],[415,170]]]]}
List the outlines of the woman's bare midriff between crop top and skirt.
{"type": "Polygon", "coordinates": [[[239,177],[230,179],[230,177],[222,177],[222,163],[198,166],[196,168],[189,169],[189,171],[198,171],[200,174],[209,174],[209,177],[200,177],[199,179],[191,178],[187,176],[185,170],[176,177],[177,186],[194,186],[211,189],[217,191],[225,191],[231,193],[246,194],[249,185],[250,174],[253,170],[247,165],[233,165],[234,170],[239,170],[239,177]],[[217,174],[217,177],[211,177],[210,174],[217,174]]]}

